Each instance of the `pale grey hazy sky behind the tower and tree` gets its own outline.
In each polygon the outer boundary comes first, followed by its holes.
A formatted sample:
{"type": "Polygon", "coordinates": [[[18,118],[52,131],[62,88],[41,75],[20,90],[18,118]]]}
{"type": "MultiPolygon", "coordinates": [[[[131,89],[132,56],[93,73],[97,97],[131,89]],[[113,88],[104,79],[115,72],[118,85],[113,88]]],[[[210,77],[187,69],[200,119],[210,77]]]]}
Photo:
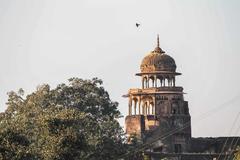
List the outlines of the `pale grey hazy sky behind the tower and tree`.
{"type": "Polygon", "coordinates": [[[239,29],[239,0],[0,0],[0,111],[8,91],[99,77],[126,116],[122,95],[141,87],[159,34],[183,73],[193,136],[240,135],[239,29]]]}

